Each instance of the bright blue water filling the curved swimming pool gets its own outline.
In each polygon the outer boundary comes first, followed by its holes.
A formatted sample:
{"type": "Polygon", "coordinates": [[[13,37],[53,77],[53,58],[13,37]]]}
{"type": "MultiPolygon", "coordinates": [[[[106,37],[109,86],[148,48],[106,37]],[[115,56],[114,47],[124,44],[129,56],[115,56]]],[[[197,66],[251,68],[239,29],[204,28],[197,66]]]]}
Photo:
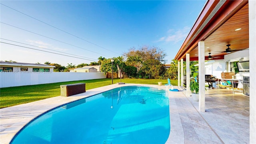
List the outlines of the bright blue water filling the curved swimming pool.
{"type": "Polygon", "coordinates": [[[50,110],[11,143],[163,144],[169,132],[166,90],[125,86],[50,110]]]}

